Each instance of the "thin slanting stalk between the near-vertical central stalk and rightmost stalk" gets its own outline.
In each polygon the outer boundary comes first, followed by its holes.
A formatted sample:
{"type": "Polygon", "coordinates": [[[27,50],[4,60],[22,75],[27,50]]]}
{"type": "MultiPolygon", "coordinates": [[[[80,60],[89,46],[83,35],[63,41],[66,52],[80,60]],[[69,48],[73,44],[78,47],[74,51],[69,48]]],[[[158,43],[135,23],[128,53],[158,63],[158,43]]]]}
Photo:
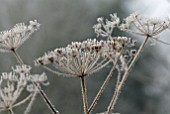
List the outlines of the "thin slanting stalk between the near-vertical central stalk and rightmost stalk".
{"type": "Polygon", "coordinates": [[[117,58],[117,60],[115,61],[112,69],[110,70],[108,76],[106,77],[105,81],[103,82],[102,86],[100,87],[100,90],[98,91],[97,95],[95,96],[92,104],[90,105],[90,107],[89,107],[89,109],[88,109],[88,112],[89,112],[89,113],[92,111],[92,109],[93,109],[93,108],[95,107],[95,105],[97,104],[97,101],[99,100],[100,95],[102,94],[102,92],[103,92],[103,90],[105,89],[107,83],[109,82],[109,79],[112,77],[112,74],[113,74],[113,72],[114,72],[114,70],[115,70],[115,68],[116,68],[116,65],[117,65],[117,63],[118,63],[118,61],[119,61],[119,58],[120,58],[123,50],[124,50],[124,49],[122,49],[120,55],[118,56],[118,58],[117,58]]]}

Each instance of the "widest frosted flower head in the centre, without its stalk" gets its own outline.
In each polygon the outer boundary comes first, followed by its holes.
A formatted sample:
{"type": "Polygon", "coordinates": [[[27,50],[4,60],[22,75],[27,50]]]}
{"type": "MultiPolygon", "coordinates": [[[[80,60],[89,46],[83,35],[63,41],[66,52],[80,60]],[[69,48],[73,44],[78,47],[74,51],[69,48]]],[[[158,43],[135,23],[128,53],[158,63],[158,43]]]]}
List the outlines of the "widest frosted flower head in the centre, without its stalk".
{"type": "Polygon", "coordinates": [[[52,63],[58,75],[87,76],[109,63],[108,58],[103,58],[104,48],[105,42],[102,40],[88,39],[83,42],[72,42],[65,48],[57,48],[45,53],[43,57],[35,60],[35,64],[45,66],[52,63]]]}

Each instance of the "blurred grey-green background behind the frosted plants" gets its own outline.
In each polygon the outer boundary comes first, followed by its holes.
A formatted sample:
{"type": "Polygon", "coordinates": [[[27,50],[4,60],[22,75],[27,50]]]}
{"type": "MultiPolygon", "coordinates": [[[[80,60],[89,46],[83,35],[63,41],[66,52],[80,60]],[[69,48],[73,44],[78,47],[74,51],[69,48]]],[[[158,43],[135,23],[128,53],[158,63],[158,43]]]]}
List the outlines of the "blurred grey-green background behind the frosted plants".
{"type": "MultiPolygon", "coordinates": [[[[40,29],[18,49],[25,63],[33,66],[33,60],[44,52],[66,46],[72,41],[95,38],[92,26],[97,17],[108,18],[118,13],[124,18],[139,11],[146,17],[170,16],[168,0],[0,0],[0,31],[12,28],[16,23],[37,19],[40,29]]],[[[123,35],[115,31],[114,35],[123,35]]],[[[128,34],[127,34],[128,35],[128,34]]],[[[130,36],[130,35],[128,35],[130,36]]],[[[170,42],[170,31],[162,34],[170,42]]],[[[137,36],[131,36],[139,39],[137,36]]],[[[145,47],[137,64],[131,71],[121,92],[114,112],[120,114],[169,114],[170,112],[170,46],[151,43],[145,47]]],[[[10,71],[17,62],[11,53],[0,53],[0,72],[10,71]]],[[[110,67],[87,78],[87,95],[92,102],[110,67]]],[[[33,68],[41,73],[42,68],[33,68]]],[[[61,114],[83,114],[79,79],[58,77],[47,72],[50,85],[43,87],[61,114]]],[[[104,112],[114,92],[114,77],[101,95],[92,114],[104,112]]],[[[22,114],[26,107],[15,108],[22,114]]],[[[6,114],[6,112],[1,112],[6,114]]],[[[50,114],[40,96],[30,114],[50,114]]]]}

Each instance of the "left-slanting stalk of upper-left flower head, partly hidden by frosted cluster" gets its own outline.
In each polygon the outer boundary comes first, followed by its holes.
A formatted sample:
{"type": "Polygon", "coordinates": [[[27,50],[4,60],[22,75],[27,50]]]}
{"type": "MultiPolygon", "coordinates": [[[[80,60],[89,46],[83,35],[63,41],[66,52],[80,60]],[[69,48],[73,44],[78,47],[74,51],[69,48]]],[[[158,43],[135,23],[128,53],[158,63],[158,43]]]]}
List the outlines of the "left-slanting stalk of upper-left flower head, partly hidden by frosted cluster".
{"type": "MultiPolygon", "coordinates": [[[[17,61],[19,64],[24,64],[24,62],[22,61],[20,55],[16,52],[16,50],[12,50],[12,52],[14,53],[17,61]]],[[[59,114],[59,111],[57,111],[54,107],[54,105],[51,103],[51,101],[49,100],[49,98],[47,97],[47,95],[45,94],[45,92],[41,89],[41,87],[36,84],[35,82],[33,82],[34,86],[38,88],[43,100],[46,102],[46,105],[50,108],[50,110],[52,111],[53,114],[59,114]]]]}

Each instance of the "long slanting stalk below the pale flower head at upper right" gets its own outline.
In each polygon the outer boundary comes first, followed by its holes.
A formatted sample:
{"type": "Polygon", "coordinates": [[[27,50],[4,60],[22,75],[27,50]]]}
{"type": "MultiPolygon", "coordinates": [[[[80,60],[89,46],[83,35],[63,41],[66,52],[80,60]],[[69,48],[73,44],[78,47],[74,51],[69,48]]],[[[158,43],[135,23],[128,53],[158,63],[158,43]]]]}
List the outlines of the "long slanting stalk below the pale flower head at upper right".
{"type": "Polygon", "coordinates": [[[125,73],[124,73],[124,75],[123,75],[123,77],[122,77],[122,80],[121,80],[121,82],[120,82],[120,84],[119,84],[116,92],[114,93],[114,95],[113,95],[113,97],[112,97],[112,100],[111,100],[109,106],[108,106],[108,109],[107,109],[107,113],[106,113],[106,114],[111,114],[111,112],[112,112],[112,110],[113,110],[113,108],[114,108],[114,106],[115,106],[115,104],[116,104],[116,101],[117,101],[117,99],[118,99],[118,97],[119,97],[119,94],[120,94],[120,91],[121,91],[121,89],[122,89],[122,87],[123,87],[123,84],[125,83],[125,81],[126,81],[126,79],[127,79],[127,76],[128,76],[128,74],[129,74],[132,66],[136,63],[136,61],[137,61],[137,59],[138,59],[138,57],[139,57],[142,49],[144,48],[144,46],[145,46],[148,38],[149,38],[149,37],[146,36],[146,38],[144,39],[143,43],[141,44],[138,52],[136,53],[135,57],[133,58],[131,64],[129,65],[128,69],[125,71],[125,73]]]}

